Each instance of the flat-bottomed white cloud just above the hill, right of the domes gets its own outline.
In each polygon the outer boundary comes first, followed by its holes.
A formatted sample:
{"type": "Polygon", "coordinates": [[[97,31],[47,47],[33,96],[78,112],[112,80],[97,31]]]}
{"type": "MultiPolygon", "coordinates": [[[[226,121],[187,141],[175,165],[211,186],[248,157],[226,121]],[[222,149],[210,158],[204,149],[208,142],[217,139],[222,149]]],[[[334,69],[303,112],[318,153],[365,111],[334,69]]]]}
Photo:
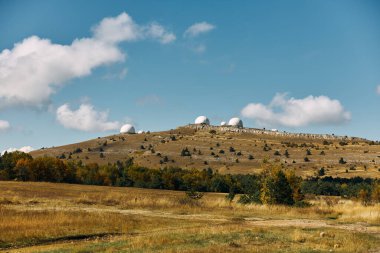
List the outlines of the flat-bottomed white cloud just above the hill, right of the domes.
{"type": "Polygon", "coordinates": [[[261,126],[328,125],[351,119],[350,112],[338,100],[326,96],[287,98],[286,94],[276,94],[269,105],[250,103],[242,109],[241,114],[261,126]]]}

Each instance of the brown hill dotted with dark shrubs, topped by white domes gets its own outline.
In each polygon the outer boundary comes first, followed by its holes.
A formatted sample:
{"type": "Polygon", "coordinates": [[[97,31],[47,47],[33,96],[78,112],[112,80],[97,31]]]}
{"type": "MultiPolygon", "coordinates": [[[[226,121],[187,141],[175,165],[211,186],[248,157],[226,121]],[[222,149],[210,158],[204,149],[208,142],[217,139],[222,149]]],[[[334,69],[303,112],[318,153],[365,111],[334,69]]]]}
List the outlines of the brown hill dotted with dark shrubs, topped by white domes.
{"type": "Polygon", "coordinates": [[[380,145],[363,138],[290,134],[262,129],[188,125],[143,134],[116,134],[31,152],[84,163],[115,163],[133,158],[149,168],[211,167],[220,173],[261,170],[263,160],[294,168],[298,175],[380,177],[380,145]]]}

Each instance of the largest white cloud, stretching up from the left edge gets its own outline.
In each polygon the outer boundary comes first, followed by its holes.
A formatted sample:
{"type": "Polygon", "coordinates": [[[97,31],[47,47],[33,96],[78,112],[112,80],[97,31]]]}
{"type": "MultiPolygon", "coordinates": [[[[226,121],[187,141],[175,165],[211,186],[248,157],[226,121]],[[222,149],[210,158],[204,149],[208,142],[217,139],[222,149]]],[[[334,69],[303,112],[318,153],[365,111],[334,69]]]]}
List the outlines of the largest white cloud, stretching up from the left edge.
{"type": "Polygon", "coordinates": [[[31,36],[0,52],[0,108],[41,107],[68,80],[96,67],[124,61],[119,43],[154,39],[167,44],[175,35],[157,23],[136,24],[127,13],[103,19],[90,38],[69,45],[31,36]]]}

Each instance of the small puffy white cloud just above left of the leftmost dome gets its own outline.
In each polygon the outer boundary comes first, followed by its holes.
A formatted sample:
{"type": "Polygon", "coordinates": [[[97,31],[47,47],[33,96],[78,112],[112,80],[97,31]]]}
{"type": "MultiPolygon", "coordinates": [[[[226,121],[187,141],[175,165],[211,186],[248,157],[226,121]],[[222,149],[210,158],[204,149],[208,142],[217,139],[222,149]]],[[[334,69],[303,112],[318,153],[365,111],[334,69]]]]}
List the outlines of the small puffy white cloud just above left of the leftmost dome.
{"type": "Polygon", "coordinates": [[[77,110],[71,110],[68,104],[58,107],[56,117],[65,128],[86,132],[109,131],[119,129],[118,121],[108,121],[108,111],[98,112],[94,106],[84,103],[77,110]]]}

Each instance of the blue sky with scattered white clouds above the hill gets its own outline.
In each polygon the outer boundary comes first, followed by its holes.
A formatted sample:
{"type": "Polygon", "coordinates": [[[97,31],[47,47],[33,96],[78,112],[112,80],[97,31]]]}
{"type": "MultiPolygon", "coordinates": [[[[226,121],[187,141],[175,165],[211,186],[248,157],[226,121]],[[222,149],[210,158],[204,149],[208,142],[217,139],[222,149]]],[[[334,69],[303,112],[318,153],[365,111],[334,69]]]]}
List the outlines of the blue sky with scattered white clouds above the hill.
{"type": "Polygon", "coordinates": [[[379,1],[0,0],[0,151],[198,115],[379,140],[379,28],[379,1]]]}

